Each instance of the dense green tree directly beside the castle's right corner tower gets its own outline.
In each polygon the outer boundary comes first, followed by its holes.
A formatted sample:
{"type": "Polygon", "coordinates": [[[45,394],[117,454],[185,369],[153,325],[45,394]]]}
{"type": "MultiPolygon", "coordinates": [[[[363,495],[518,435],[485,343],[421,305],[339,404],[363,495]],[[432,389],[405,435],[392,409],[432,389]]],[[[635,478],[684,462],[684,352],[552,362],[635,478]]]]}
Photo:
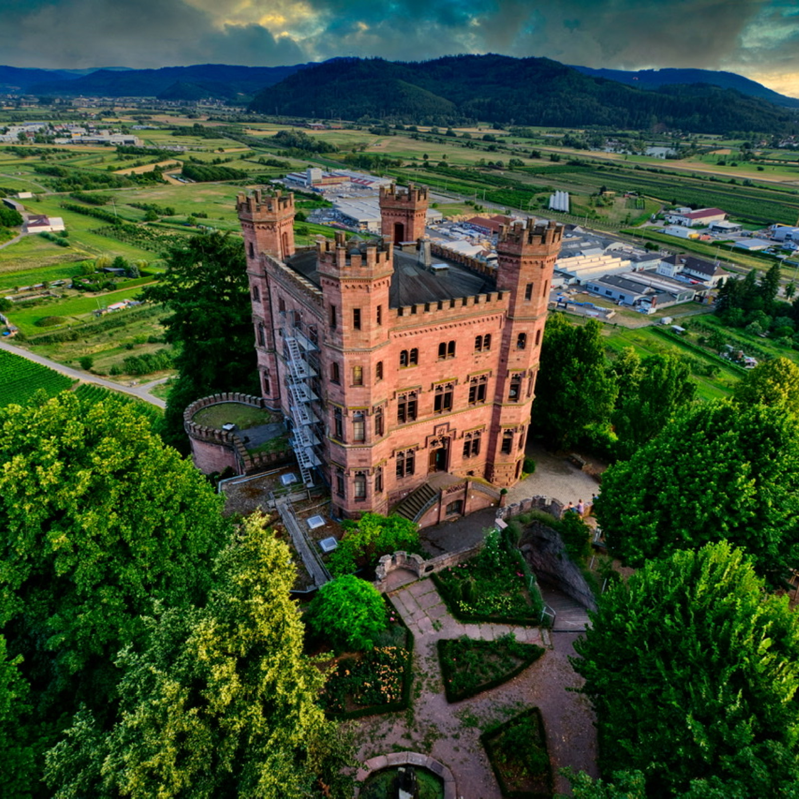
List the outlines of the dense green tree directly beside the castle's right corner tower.
{"type": "Polygon", "coordinates": [[[550,316],[535,392],[533,424],[553,446],[573,446],[586,433],[609,426],[617,388],[596,320],[580,326],[563,314],[550,316]]]}

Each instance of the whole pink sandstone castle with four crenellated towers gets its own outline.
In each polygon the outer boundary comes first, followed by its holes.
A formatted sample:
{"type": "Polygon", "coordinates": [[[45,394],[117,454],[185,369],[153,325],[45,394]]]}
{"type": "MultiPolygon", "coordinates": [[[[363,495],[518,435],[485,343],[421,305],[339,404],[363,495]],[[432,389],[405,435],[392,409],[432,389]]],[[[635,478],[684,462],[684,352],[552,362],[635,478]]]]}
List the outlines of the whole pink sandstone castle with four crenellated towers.
{"type": "Polygon", "coordinates": [[[298,248],[292,194],[237,200],[264,403],[345,517],[451,475],[429,514],[451,518],[522,470],[562,225],[503,227],[496,267],[453,263],[431,254],[427,203],[423,187],[381,189],[380,239],[298,248]]]}

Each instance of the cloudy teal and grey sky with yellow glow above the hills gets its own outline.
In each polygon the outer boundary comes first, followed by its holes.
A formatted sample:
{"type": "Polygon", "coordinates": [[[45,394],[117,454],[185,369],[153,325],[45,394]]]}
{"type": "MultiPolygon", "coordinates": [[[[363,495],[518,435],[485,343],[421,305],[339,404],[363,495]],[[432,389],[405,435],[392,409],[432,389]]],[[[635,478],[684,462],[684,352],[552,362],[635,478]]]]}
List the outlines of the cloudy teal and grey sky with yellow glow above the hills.
{"type": "Polygon", "coordinates": [[[799,97],[797,0],[0,0],[0,63],[276,66],[546,56],[729,70],[799,97]]]}

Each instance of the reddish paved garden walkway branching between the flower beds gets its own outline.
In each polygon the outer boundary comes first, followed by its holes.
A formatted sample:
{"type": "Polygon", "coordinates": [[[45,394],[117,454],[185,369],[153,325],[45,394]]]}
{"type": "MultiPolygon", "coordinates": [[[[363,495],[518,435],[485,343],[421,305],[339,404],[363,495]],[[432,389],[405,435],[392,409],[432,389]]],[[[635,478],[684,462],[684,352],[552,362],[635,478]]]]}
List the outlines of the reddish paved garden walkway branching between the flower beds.
{"type": "Polygon", "coordinates": [[[582,694],[566,690],[582,683],[568,662],[568,656],[574,654],[571,645],[576,635],[558,634],[554,648],[522,674],[476,697],[450,704],[443,693],[439,670],[439,638],[467,634],[492,640],[514,632],[519,641],[551,646],[548,636],[544,638],[536,627],[458,622],[448,613],[431,580],[414,582],[389,595],[415,636],[414,703],[405,714],[387,714],[360,722],[361,761],[399,749],[427,753],[451,769],[459,797],[501,799],[479,736],[496,721],[538,706],[547,730],[555,789],[568,789],[567,781],[557,773],[565,765],[598,776],[590,703],[582,694]]]}

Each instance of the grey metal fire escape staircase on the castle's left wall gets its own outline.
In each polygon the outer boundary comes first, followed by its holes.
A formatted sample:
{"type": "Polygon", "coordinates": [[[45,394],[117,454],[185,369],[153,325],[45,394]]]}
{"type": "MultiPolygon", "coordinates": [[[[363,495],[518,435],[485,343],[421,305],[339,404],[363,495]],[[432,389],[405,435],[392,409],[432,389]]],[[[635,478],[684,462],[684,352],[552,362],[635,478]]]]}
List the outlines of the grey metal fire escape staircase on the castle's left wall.
{"type": "Polygon", "coordinates": [[[286,344],[286,364],[288,371],[286,383],[288,388],[288,406],[292,419],[292,437],[290,443],[294,449],[297,463],[300,464],[300,473],[306,487],[314,485],[313,470],[320,465],[313,447],[319,444],[319,439],[314,435],[313,427],[318,423],[316,415],[311,409],[311,403],[318,398],[312,392],[308,381],[315,376],[315,372],[308,364],[304,351],[309,352],[316,345],[304,336],[296,327],[284,326],[283,340],[286,344]]]}

